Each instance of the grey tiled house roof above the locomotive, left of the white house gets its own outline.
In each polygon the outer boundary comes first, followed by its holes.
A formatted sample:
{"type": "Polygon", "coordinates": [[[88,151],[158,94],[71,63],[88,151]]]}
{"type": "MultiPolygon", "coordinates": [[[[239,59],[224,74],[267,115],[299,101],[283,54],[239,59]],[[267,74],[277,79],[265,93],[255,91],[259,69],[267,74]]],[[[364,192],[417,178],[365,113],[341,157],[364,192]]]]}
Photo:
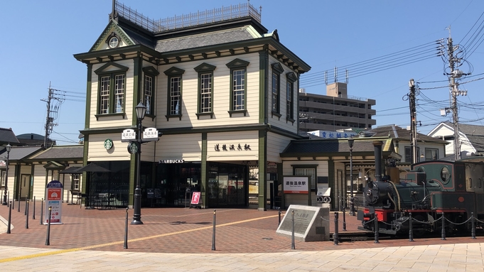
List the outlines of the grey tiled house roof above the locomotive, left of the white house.
{"type": "MultiPolygon", "coordinates": [[[[412,139],[412,131],[409,131],[408,129],[403,129],[396,125],[378,126],[375,129],[370,129],[366,133],[372,134],[372,137],[390,137],[399,141],[411,141],[412,139]]],[[[416,141],[427,143],[448,143],[447,141],[443,141],[439,138],[434,138],[425,134],[419,134],[418,132],[416,133],[416,141]]]]}

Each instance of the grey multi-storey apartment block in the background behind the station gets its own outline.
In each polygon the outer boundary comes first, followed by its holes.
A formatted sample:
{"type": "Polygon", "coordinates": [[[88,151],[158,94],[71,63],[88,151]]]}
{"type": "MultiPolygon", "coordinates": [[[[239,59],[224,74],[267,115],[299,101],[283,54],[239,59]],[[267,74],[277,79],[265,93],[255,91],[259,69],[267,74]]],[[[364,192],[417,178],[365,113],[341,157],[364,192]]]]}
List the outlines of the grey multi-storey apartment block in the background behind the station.
{"type": "Polygon", "coordinates": [[[299,129],[301,131],[338,131],[372,129],[377,124],[374,99],[348,96],[346,83],[326,86],[326,95],[299,90],[299,129]]]}

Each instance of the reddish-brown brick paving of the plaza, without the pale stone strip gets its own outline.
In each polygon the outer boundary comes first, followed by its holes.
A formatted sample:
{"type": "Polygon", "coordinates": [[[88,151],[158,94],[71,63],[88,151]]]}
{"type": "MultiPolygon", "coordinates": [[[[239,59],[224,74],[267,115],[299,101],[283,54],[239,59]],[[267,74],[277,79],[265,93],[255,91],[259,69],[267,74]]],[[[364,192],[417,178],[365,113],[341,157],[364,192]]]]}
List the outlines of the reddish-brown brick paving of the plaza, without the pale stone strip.
{"type": "MultiPolygon", "coordinates": [[[[32,205],[32,204],[31,204],[32,205]]],[[[31,211],[32,207],[29,208],[31,211]]],[[[47,226],[40,224],[41,207],[36,203],[36,219],[29,214],[26,229],[25,202],[21,212],[17,206],[11,214],[14,228],[11,234],[1,234],[0,246],[19,246],[39,249],[77,249],[90,247],[95,251],[127,251],[124,249],[126,214],[131,222],[133,210],[85,210],[79,205],[63,204],[63,224],[50,226],[50,245],[45,246],[47,226]]],[[[0,206],[0,217],[8,218],[8,208],[0,206]]],[[[334,228],[334,212],[330,212],[330,232],[334,228]]],[[[141,209],[142,225],[128,224],[129,251],[150,253],[269,253],[288,252],[291,239],[276,234],[279,224],[277,210],[260,212],[249,209],[217,209],[215,251],[212,250],[214,210],[188,208],[141,209]]],[[[284,217],[284,212],[281,214],[284,217]]],[[[339,232],[343,232],[340,215],[339,232]]],[[[358,232],[360,222],[356,217],[346,216],[347,231],[358,232]]],[[[2,222],[0,222],[0,225],[2,222]]],[[[419,246],[429,244],[482,243],[482,235],[470,237],[447,237],[414,239],[380,239],[376,244],[367,241],[345,241],[335,245],[333,241],[295,241],[298,251],[322,251],[335,249],[368,249],[384,246],[419,246]]]]}

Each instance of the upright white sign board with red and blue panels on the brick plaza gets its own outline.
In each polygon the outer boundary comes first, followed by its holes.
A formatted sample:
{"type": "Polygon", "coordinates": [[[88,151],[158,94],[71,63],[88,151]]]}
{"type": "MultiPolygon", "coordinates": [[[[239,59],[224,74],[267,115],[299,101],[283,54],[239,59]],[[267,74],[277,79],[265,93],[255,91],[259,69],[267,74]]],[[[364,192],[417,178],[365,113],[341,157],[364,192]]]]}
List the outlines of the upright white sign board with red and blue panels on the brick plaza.
{"type": "Polygon", "coordinates": [[[50,220],[50,224],[63,224],[60,220],[62,215],[62,190],[63,185],[59,182],[59,180],[52,180],[47,184],[47,187],[45,188],[45,210],[42,220],[43,224],[48,224],[48,220],[50,220]],[[52,210],[50,211],[50,218],[49,206],[52,207],[52,210]]]}

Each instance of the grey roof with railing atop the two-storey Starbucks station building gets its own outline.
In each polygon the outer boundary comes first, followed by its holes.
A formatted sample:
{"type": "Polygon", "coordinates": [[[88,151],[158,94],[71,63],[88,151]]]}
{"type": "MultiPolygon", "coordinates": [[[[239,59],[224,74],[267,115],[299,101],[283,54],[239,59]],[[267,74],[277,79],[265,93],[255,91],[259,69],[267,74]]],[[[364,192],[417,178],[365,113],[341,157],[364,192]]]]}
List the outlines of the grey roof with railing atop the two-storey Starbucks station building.
{"type": "Polygon", "coordinates": [[[178,62],[264,50],[299,74],[311,70],[311,66],[280,43],[277,31],[267,33],[267,29],[252,16],[224,18],[210,23],[195,21],[180,26],[177,21],[176,28],[165,28],[141,13],[131,13],[132,9],[126,6],[117,5],[116,8],[119,14],[109,21],[88,53],[74,55],[77,60],[96,64],[141,56],[153,65],[176,65],[178,62]],[[148,26],[151,24],[153,26],[148,26]],[[154,25],[156,30],[152,29],[154,25]],[[107,40],[112,36],[122,41],[116,48],[107,46],[107,40]]]}

